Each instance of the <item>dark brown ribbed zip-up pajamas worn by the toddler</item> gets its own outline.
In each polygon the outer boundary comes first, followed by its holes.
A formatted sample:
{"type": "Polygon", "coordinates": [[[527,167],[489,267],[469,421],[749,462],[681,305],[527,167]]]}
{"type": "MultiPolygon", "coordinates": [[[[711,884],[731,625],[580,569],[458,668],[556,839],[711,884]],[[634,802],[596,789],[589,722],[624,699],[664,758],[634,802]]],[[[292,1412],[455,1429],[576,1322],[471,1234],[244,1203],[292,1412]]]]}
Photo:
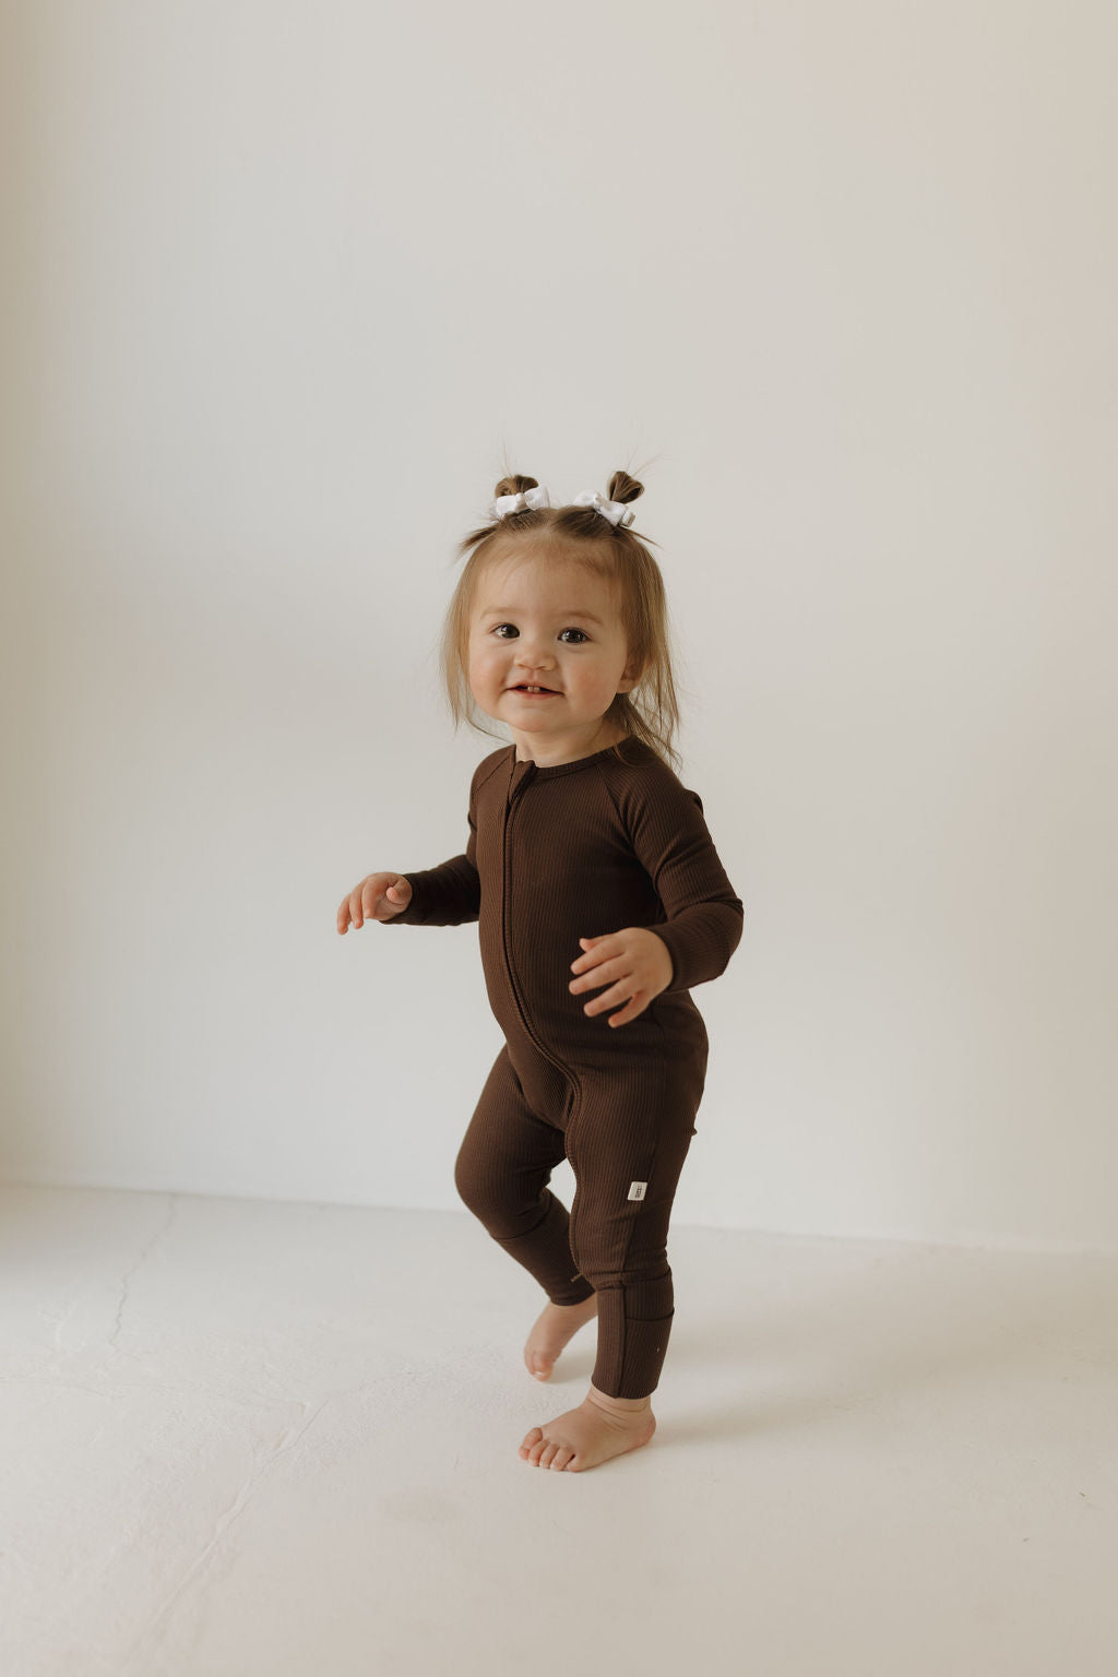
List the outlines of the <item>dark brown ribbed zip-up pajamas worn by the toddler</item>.
{"type": "MultiPolygon", "coordinates": [[[[458,1154],[454,1182],[488,1233],[555,1305],[598,1295],[593,1385],[655,1390],[674,1315],[667,1226],[707,1067],[689,996],[738,948],[743,904],[702,802],[639,740],[540,766],[493,751],[469,788],[463,855],[407,874],[412,897],[384,926],[478,921],[489,1005],[505,1031],[458,1154]],[[583,949],[647,926],[672,979],[635,1020],[610,1026],[572,993],[583,949]],[[568,1157],[570,1218],[550,1192],[568,1157]]],[[[619,1005],[620,1006],[620,1005],[619,1005]]]]}

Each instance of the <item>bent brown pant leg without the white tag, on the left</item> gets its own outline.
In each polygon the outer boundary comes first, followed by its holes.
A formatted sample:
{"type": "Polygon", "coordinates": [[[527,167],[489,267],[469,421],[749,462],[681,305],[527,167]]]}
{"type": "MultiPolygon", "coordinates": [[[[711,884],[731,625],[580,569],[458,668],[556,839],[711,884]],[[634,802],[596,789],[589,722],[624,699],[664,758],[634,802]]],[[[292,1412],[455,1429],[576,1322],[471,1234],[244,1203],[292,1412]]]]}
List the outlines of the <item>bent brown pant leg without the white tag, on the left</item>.
{"type": "Polygon", "coordinates": [[[458,1150],[454,1186],[553,1305],[577,1305],[593,1293],[572,1256],[567,1206],[548,1189],[551,1171],[565,1157],[563,1130],[528,1107],[503,1046],[458,1150]]]}

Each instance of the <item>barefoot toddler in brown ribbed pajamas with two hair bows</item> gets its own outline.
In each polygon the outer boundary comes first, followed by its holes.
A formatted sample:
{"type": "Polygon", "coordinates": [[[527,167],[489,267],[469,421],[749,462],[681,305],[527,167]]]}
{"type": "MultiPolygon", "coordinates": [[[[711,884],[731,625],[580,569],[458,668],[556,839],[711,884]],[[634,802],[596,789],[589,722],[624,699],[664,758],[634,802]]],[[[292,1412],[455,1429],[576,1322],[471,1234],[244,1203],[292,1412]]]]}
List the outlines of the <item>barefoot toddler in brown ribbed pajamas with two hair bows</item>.
{"type": "MultiPolygon", "coordinates": [[[[670,766],[677,726],[667,602],[629,528],[644,493],[551,506],[505,478],[443,634],[458,726],[471,699],[511,745],[478,763],[466,850],[439,867],[369,874],[337,929],[478,921],[505,1043],[463,1139],[466,1206],[548,1303],[525,1363],[548,1380],[598,1318],[590,1390],[520,1446],[582,1472],[647,1444],[672,1325],[667,1228],[702,1098],[707,1033],[691,988],[738,948],[743,904],[697,793],[670,766]],[[570,1214],[551,1171],[570,1159],[570,1214]]],[[[483,729],[484,731],[484,729],[483,729]]]]}

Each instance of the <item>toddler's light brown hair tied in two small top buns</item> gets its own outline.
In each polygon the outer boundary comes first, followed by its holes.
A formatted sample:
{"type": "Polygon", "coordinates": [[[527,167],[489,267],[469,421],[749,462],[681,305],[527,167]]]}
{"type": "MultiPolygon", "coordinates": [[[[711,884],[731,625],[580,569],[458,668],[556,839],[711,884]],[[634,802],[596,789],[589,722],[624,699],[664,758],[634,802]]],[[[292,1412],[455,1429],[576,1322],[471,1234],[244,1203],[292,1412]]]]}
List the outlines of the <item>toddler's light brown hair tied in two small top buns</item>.
{"type": "MultiPolygon", "coordinates": [[[[496,498],[535,488],[538,488],[535,478],[508,476],[501,478],[493,493],[496,498]]],[[[644,495],[644,485],[625,471],[615,471],[607,493],[612,501],[635,501],[639,495],[644,495]]],[[[486,567],[513,553],[516,545],[523,542],[533,548],[553,548],[556,557],[562,555],[587,565],[613,587],[625,629],[629,659],[642,674],[629,693],[615,694],[603,721],[622,728],[629,740],[642,740],[679,771],[681,758],[672,745],[672,736],[679,728],[679,703],[672,676],[669,607],[660,567],[645,547],[650,540],[650,537],[634,535],[629,527],[610,525],[593,506],[573,505],[525,506],[523,511],[506,513],[496,523],[484,525],[464,537],[458,543],[453,562],[458,563],[463,553],[469,553],[469,558],[446,610],[439,644],[443,681],[454,728],[458,729],[464,718],[471,728],[491,735],[491,729],[478,721],[469,689],[469,619],[478,582],[486,567]]],[[[652,545],[659,547],[655,542],[652,545]]],[[[613,746],[619,756],[622,756],[624,743],[619,740],[613,746]]]]}

